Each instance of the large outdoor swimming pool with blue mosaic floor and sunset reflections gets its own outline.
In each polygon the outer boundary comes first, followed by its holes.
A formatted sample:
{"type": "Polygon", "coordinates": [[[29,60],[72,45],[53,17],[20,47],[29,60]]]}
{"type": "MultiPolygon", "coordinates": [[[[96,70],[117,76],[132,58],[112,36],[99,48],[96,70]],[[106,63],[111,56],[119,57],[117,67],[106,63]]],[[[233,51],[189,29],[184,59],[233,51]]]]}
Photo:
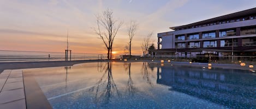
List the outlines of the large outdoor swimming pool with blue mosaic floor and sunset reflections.
{"type": "Polygon", "coordinates": [[[256,108],[249,70],[98,62],[23,73],[52,108],[256,108]]]}

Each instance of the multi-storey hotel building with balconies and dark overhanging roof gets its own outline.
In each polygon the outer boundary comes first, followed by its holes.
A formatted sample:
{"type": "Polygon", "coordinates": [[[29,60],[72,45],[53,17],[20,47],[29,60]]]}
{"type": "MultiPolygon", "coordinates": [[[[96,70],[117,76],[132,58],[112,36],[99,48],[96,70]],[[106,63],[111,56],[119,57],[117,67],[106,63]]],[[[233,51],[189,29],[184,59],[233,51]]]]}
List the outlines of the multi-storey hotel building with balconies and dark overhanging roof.
{"type": "Polygon", "coordinates": [[[158,33],[159,57],[256,55],[256,8],[170,29],[158,33]]]}

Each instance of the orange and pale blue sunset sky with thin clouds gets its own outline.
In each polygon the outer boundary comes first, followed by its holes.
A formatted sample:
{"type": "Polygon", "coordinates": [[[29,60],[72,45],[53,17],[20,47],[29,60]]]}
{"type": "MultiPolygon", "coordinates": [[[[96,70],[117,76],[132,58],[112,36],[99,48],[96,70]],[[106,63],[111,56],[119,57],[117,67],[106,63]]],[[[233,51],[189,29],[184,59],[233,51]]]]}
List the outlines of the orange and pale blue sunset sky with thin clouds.
{"type": "Polygon", "coordinates": [[[135,20],[139,25],[132,54],[141,55],[140,43],[151,31],[157,47],[157,33],[171,31],[169,27],[255,7],[255,0],[0,0],[0,50],[64,52],[69,30],[73,52],[105,54],[105,46],[92,28],[97,24],[95,15],[109,8],[124,22],[114,51],[123,54],[127,24],[135,20]]]}

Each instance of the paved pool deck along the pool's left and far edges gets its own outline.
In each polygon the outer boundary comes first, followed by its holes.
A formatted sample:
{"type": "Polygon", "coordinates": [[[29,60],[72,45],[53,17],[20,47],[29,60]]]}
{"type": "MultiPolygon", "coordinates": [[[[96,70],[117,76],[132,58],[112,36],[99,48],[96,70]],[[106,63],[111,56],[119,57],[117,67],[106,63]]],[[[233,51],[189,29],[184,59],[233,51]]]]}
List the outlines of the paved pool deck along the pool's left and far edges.
{"type": "MultiPolygon", "coordinates": [[[[12,109],[20,108],[25,109],[26,106],[26,96],[24,87],[24,78],[22,69],[24,68],[41,68],[41,67],[59,67],[59,66],[72,66],[77,63],[86,62],[97,62],[97,60],[90,61],[50,61],[50,62],[4,62],[0,63],[0,108],[12,109]]],[[[123,62],[123,61],[116,61],[123,62]]],[[[129,61],[129,62],[141,62],[139,61],[129,61]]],[[[147,61],[152,62],[152,61],[147,61]]],[[[154,61],[159,63],[160,61],[154,61]]],[[[164,64],[170,64],[164,62],[164,64]]],[[[171,62],[174,65],[189,65],[189,66],[200,66],[207,67],[207,63],[188,63],[188,62],[171,62]]],[[[241,67],[240,65],[228,65],[228,64],[212,64],[212,67],[219,68],[233,68],[233,69],[251,69],[248,65],[241,67]]]]}

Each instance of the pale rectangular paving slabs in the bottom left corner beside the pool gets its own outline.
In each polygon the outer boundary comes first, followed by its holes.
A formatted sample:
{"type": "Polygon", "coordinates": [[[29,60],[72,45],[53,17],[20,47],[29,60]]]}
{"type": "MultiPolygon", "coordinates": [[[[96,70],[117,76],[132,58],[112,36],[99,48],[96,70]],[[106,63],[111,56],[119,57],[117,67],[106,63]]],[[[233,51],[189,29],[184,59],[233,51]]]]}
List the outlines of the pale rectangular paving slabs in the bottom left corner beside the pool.
{"type": "Polygon", "coordinates": [[[22,70],[4,70],[0,74],[0,108],[26,109],[22,70]]]}

